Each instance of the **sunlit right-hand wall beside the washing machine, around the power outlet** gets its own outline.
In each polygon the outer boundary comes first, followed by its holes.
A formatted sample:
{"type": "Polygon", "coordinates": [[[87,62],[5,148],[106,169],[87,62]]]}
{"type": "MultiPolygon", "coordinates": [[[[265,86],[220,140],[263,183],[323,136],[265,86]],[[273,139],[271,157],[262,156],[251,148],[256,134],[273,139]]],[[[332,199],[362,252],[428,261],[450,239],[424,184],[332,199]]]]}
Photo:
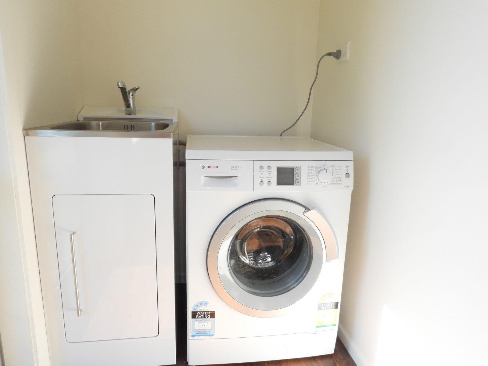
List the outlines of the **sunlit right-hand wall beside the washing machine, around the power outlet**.
{"type": "Polygon", "coordinates": [[[341,328],[358,366],[486,363],[485,1],[323,0],[311,137],[354,151],[341,328]],[[325,66],[325,65],[324,65],[325,66]]]}

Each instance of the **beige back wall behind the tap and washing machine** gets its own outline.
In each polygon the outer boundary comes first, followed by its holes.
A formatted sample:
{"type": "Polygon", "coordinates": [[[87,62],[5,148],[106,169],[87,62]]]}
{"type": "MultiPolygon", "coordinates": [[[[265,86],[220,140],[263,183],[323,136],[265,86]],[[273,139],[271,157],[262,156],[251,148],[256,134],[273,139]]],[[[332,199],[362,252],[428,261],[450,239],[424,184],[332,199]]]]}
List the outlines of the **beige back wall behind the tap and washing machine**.
{"type": "MultiPolygon", "coordinates": [[[[318,0],[80,0],[85,105],[176,107],[183,135],[276,135],[313,80],[318,0]]],[[[309,136],[311,109],[288,135],[309,136]]]]}

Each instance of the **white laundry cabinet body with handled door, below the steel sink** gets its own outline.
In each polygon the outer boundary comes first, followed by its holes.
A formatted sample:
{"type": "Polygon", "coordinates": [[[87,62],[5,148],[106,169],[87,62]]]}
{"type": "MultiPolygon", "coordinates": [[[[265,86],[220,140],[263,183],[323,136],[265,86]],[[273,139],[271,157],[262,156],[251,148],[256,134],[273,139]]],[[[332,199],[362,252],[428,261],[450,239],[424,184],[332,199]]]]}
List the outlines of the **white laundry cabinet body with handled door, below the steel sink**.
{"type": "Polygon", "coordinates": [[[25,147],[50,365],[174,365],[172,139],[25,147]]]}

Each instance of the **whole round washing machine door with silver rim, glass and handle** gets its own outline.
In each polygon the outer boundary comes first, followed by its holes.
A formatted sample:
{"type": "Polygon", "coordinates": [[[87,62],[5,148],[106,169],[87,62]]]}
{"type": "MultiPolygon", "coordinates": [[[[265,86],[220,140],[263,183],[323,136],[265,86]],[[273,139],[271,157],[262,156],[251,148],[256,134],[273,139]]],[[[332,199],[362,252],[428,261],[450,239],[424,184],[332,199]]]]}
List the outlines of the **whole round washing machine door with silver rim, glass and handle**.
{"type": "Polygon", "coordinates": [[[292,309],[338,257],[332,227],[316,209],[284,199],[247,203],[215,230],[207,252],[213,287],[234,309],[275,317],[292,309]]]}

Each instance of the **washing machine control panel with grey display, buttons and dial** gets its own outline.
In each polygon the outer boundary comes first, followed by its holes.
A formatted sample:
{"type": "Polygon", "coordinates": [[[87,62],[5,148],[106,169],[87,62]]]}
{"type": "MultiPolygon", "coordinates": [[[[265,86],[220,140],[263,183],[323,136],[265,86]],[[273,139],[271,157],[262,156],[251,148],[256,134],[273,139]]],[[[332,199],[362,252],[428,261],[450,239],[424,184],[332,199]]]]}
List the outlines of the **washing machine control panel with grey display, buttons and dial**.
{"type": "Polygon", "coordinates": [[[254,161],[254,190],[352,190],[352,164],[352,161],[254,161]]]}

